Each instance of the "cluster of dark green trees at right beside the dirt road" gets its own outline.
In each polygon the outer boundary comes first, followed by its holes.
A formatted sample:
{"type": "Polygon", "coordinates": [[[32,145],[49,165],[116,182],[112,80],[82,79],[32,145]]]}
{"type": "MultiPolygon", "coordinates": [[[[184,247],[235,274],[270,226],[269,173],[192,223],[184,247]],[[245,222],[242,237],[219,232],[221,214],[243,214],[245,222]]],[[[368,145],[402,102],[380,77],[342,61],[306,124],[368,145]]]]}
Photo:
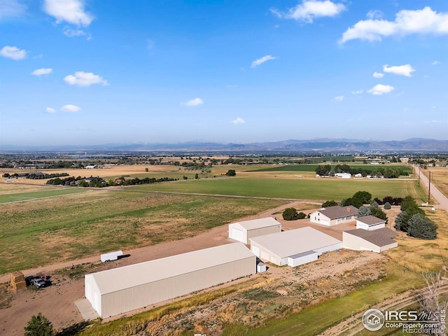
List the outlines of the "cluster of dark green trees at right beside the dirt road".
{"type": "Polygon", "coordinates": [[[394,228],[406,232],[408,236],[420,239],[437,238],[437,225],[426,217],[412,196],[406,196],[395,218],[394,228]]]}

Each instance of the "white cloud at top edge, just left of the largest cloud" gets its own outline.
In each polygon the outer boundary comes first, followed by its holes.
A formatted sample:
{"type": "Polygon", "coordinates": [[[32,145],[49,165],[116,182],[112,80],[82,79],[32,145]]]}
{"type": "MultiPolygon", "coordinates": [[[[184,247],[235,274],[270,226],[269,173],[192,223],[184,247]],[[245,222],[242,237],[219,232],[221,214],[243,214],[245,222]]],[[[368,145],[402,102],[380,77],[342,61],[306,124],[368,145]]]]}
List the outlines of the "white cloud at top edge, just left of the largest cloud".
{"type": "Polygon", "coordinates": [[[303,0],[302,3],[290,8],[286,13],[276,9],[271,9],[271,12],[282,19],[312,23],[314,18],[332,17],[338,15],[343,10],[346,10],[346,7],[342,3],[334,3],[330,0],[303,0]]]}

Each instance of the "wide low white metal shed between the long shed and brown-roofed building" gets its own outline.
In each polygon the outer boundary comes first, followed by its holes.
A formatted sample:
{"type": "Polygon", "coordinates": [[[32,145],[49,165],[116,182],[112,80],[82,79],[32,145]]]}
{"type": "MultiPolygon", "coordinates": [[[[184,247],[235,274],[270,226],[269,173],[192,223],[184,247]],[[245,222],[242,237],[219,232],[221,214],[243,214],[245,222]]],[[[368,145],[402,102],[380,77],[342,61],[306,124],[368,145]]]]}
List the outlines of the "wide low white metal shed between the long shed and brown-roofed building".
{"type": "Polygon", "coordinates": [[[342,241],[309,226],[251,238],[252,253],[279,266],[303,265],[338,248],[342,248],[342,241]]]}

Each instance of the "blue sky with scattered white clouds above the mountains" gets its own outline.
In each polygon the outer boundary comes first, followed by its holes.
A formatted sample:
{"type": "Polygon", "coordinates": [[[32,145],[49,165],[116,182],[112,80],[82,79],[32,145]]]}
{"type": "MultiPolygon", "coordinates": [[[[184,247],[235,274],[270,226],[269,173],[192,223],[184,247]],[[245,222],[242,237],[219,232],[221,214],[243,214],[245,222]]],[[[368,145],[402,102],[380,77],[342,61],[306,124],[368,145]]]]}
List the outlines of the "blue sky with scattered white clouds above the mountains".
{"type": "Polygon", "coordinates": [[[0,0],[0,144],[448,139],[448,1],[0,0]]]}

